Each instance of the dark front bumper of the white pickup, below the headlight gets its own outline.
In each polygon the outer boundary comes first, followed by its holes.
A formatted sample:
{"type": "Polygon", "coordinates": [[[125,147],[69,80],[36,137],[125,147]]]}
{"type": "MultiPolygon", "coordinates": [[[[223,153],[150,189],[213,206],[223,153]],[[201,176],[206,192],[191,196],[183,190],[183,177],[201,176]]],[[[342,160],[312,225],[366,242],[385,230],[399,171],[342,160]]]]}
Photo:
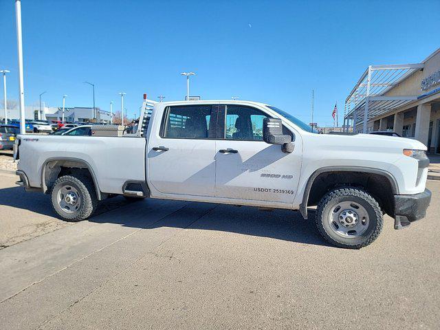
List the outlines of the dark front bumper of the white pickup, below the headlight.
{"type": "Polygon", "coordinates": [[[408,227],[411,222],[423,219],[430,201],[431,192],[428,189],[415,195],[394,195],[394,229],[408,227]]]}

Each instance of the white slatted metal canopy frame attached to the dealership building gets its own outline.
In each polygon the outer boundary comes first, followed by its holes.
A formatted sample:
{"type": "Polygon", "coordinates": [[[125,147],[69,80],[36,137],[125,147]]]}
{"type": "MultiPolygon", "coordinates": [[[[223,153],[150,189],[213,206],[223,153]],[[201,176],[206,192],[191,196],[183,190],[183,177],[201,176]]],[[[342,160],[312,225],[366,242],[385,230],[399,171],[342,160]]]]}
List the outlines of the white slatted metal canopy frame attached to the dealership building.
{"type": "MultiPolygon", "coordinates": [[[[344,122],[363,124],[366,133],[368,120],[377,115],[393,111],[417,100],[417,96],[384,96],[395,85],[414,72],[423,69],[423,63],[402,65],[370,65],[345,100],[344,122]]],[[[345,125],[348,130],[348,125],[345,125]]]]}

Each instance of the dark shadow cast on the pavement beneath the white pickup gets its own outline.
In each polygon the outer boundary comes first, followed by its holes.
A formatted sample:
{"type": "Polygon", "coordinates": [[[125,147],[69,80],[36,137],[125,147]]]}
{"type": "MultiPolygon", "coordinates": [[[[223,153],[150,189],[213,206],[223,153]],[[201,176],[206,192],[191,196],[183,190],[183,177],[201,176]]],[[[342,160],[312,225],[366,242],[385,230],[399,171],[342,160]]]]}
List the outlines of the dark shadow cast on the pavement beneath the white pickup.
{"type": "MultiPolygon", "coordinates": [[[[0,205],[57,218],[49,195],[25,192],[21,187],[0,189],[0,205]]],[[[318,234],[314,216],[314,210],[309,211],[309,219],[305,220],[299,212],[291,210],[157,199],[130,203],[123,197],[115,197],[102,201],[89,221],[146,230],[164,227],[213,230],[330,246],[318,234]],[[173,208],[174,211],[169,211],[173,208]],[[158,212],[163,212],[163,216],[157,216],[158,212]]]]}

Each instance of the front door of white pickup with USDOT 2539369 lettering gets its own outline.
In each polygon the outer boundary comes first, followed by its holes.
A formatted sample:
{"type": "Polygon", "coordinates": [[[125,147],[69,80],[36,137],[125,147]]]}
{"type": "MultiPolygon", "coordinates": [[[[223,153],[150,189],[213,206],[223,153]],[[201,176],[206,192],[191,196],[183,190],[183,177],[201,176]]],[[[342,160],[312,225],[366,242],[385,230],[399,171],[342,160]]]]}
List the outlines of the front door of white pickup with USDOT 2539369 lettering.
{"type": "MultiPolygon", "coordinates": [[[[224,109],[224,107],[223,107],[224,109]]],[[[300,135],[292,134],[293,153],[263,141],[267,113],[254,107],[227,105],[222,112],[223,138],[217,138],[215,196],[292,204],[300,175],[300,135]]]]}

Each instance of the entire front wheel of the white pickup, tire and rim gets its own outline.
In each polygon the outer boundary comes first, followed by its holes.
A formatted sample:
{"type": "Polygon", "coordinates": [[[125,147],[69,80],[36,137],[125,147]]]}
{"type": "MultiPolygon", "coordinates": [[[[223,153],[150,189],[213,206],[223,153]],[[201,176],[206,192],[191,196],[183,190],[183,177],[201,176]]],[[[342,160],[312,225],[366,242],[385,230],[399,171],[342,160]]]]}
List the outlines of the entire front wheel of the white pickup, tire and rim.
{"type": "Polygon", "coordinates": [[[318,204],[316,225],[329,243],[359,249],[379,236],[382,211],[377,201],[364,190],[336,189],[328,192],[318,204]]]}

